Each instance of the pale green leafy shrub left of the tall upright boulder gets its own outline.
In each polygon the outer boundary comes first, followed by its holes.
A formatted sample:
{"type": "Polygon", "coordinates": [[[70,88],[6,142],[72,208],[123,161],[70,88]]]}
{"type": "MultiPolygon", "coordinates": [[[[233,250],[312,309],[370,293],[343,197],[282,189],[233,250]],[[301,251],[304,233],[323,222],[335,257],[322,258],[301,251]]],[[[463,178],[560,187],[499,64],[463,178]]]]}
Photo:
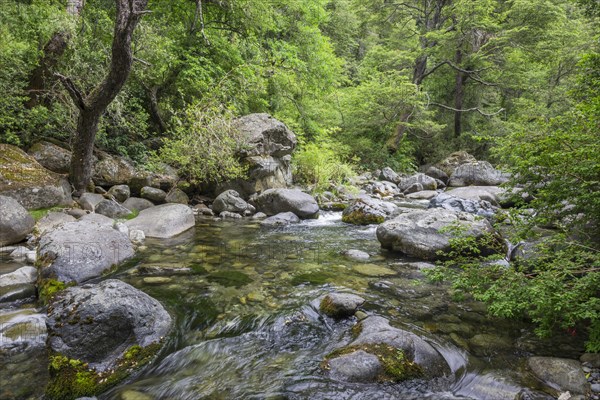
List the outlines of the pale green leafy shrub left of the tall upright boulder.
{"type": "Polygon", "coordinates": [[[221,182],[244,176],[238,154],[246,146],[229,110],[196,104],[177,119],[156,160],[176,166],[190,182],[221,182]]]}

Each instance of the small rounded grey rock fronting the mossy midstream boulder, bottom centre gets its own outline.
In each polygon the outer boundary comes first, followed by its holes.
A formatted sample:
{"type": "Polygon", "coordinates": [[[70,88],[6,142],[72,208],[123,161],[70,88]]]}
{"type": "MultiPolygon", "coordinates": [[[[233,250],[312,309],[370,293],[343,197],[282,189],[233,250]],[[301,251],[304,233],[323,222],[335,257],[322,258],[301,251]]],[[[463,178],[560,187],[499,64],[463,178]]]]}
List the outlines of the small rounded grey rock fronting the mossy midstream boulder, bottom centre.
{"type": "Polygon", "coordinates": [[[383,369],[377,356],[363,350],[332,358],[328,364],[329,376],[344,382],[375,382],[383,369]]]}

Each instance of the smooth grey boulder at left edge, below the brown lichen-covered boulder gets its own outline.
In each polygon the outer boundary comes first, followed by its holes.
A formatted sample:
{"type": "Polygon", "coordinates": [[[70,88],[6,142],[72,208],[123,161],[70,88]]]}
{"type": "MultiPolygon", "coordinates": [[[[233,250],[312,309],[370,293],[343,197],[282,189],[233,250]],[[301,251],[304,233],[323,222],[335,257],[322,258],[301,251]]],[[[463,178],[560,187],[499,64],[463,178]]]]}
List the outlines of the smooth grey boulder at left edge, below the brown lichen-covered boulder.
{"type": "Polygon", "coordinates": [[[18,243],[33,230],[35,220],[12,197],[0,196],[0,246],[18,243]]]}

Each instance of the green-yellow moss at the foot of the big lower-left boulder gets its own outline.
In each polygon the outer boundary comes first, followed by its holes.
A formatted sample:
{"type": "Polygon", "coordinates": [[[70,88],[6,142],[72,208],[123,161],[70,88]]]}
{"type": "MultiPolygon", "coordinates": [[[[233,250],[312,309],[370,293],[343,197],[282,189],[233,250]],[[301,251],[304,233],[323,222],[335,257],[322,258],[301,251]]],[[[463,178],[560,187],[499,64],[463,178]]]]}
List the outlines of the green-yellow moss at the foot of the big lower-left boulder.
{"type": "Polygon", "coordinates": [[[131,346],[119,359],[114,369],[101,373],[81,360],[70,359],[61,354],[52,355],[48,366],[50,382],[46,386],[45,398],[72,400],[102,393],[150,362],[161,345],[162,343],[154,343],[146,347],[131,346]]]}

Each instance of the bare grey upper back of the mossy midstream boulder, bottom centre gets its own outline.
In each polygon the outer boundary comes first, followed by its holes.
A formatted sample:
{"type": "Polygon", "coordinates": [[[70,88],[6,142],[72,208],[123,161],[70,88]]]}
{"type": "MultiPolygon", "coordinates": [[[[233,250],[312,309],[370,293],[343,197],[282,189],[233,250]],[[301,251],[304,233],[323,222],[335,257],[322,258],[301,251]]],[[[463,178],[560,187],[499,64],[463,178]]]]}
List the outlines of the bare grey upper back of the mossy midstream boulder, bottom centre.
{"type": "Polygon", "coordinates": [[[450,372],[444,357],[414,333],[394,328],[387,319],[375,315],[365,318],[360,324],[360,334],[350,346],[385,343],[402,349],[406,357],[423,368],[427,377],[442,376],[450,372]]]}

